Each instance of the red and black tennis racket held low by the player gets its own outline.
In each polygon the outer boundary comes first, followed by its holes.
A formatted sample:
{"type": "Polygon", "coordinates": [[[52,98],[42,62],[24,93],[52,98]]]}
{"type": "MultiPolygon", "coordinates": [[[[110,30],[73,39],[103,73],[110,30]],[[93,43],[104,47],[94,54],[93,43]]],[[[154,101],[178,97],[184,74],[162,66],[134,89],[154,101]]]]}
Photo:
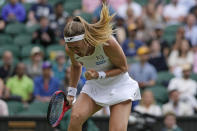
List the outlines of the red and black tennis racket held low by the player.
{"type": "Polygon", "coordinates": [[[66,111],[71,108],[63,91],[56,91],[49,102],[47,121],[52,127],[59,125],[66,111]]]}

